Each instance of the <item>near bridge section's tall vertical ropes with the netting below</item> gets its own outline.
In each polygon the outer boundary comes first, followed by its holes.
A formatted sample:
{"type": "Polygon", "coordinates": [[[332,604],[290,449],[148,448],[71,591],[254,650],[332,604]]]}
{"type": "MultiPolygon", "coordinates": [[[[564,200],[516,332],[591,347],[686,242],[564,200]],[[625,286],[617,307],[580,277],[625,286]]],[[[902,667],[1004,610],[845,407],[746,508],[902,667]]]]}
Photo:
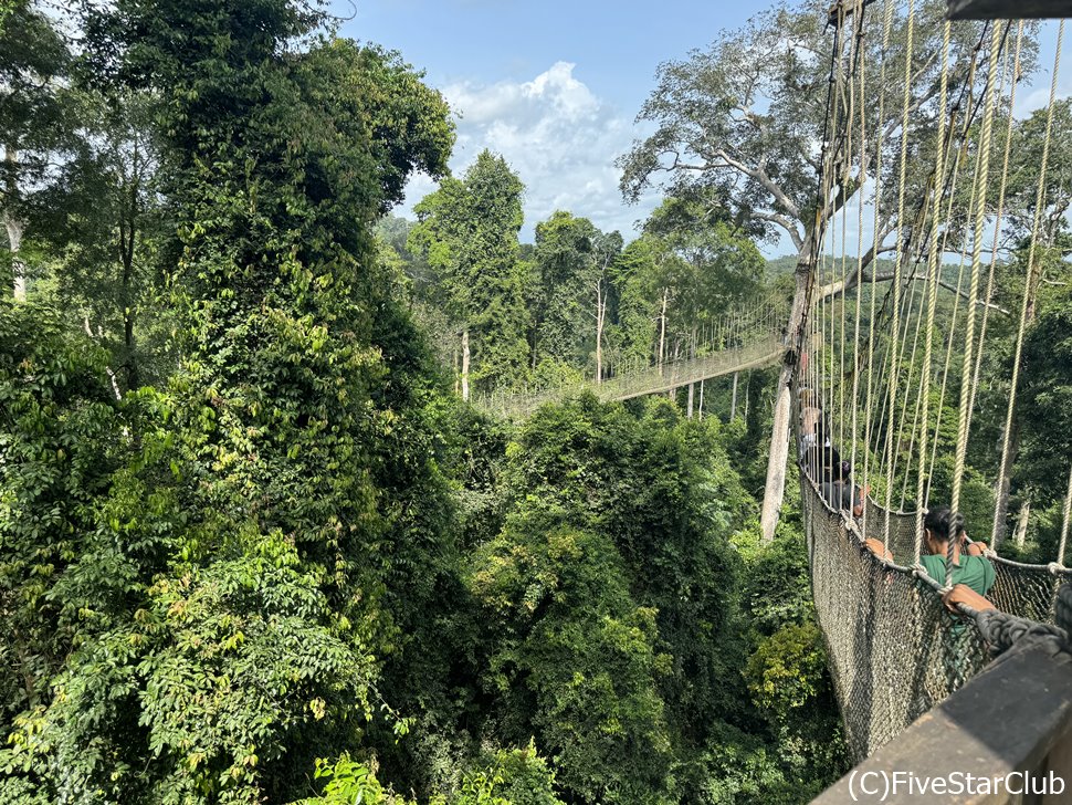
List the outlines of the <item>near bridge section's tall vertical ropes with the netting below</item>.
{"type": "Polygon", "coordinates": [[[1047,62],[1037,27],[949,23],[939,7],[847,0],[831,12],[831,135],[814,279],[807,320],[791,336],[814,605],[856,757],[965,684],[1016,636],[1066,639],[1057,624],[1062,584],[1072,581],[1063,566],[1072,468],[1054,562],[999,556],[997,515],[989,547],[970,547],[990,525],[978,499],[1000,491],[1012,471],[1028,295],[1047,238],[1040,220],[1052,218],[1045,188],[1063,23],[1052,25],[1047,62]],[[1010,150],[1024,116],[1017,90],[1039,94],[1030,84],[1036,63],[1047,64],[1050,80],[1038,190],[1030,215],[1010,221],[1010,150]],[[969,462],[973,418],[991,316],[1017,321],[995,303],[996,275],[1013,271],[1024,274],[1023,305],[1007,367],[1005,443],[1000,467],[984,471],[969,462]],[[925,520],[939,506],[954,523],[944,535],[925,520]],[[958,579],[971,563],[981,579],[973,582],[975,606],[950,608],[944,600],[965,586],[958,579]]]}

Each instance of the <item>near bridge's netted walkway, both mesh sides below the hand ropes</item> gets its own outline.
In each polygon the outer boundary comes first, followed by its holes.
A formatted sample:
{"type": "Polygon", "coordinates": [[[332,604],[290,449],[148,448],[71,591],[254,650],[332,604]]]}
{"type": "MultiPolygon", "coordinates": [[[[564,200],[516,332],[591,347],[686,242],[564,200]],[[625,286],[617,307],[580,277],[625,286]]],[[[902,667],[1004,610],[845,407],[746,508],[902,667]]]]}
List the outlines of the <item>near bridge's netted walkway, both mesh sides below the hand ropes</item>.
{"type": "MultiPolygon", "coordinates": [[[[942,603],[940,582],[883,561],[864,544],[868,533],[881,540],[881,518],[879,527],[864,531],[831,509],[805,473],[801,499],[816,611],[858,760],[964,686],[1016,637],[1057,628],[1049,625],[1060,582],[1072,579],[1069,569],[991,557],[997,578],[988,597],[1000,611],[964,607],[955,616],[942,603]]],[[[873,502],[870,508],[882,512],[873,502]]],[[[898,518],[914,527],[914,514],[898,518]]]]}

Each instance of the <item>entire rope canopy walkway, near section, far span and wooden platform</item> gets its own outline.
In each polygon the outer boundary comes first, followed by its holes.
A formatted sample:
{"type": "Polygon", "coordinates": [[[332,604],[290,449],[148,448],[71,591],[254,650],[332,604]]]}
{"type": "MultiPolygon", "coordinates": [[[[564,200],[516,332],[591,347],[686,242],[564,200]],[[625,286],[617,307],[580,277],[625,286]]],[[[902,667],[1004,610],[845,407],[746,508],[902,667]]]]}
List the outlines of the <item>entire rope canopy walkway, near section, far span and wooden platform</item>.
{"type": "MultiPolygon", "coordinates": [[[[816,611],[860,763],[821,803],[862,798],[853,781],[868,773],[886,775],[885,802],[918,801],[918,792],[890,790],[889,775],[898,770],[974,772],[991,782],[1057,771],[1069,783],[1064,799],[1018,797],[995,784],[982,794],[936,792],[924,801],[1072,802],[1072,569],[1064,565],[1072,467],[1052,561],[1001,555],[1006,522],[997,505],[992,522],[967,524],[969,537],[989,531],[982,552],[995,581],[982,604],[947,604],[952,548],[939,577],[923,562],[928,509],[971,509],[968,450],[997,315],[1012,332],[1012,349],[1001,368],[1008,393],[1000,466],[987,483],[999,498],[1008,484],[1024,337],[1043,252],[1052,251],[1054,219],[1063,215],[1050,209],[1047,177],[1064,24],[1052,23],[1053,46],[1037,52],[1039,29],[1001,19],[1008,6],[955,0],[947,19],[924,17],[915,0],[839,0],[831,8],[819,202],[788,318],[768,305],[687,359],[483,401],[525,416],[582,387],[601,399],[628,399],[781,360],[780,394],[792,409],[776,411],[773,454],[780,446],[799,457],[792,446],[814,437],[818,422],[848,458],[850,500],[862,501],[832,506],[818,467],[794,462],[816,611]],[[938,52],[917,51],[914,35],[935,25],[938,52]],[[1050,79],[1048,93],[1026,83],[1036,59],[1050,79]],[[1030,215],[1010,220],[1012,135],[1023,116],[1017,93],[1028,90],[1049,98],[1043,146],[1027,182],[1030,215]],[[1020,244],[1016,255],[1010,242],[1020,244]],[[882,276],[880,254],[893,263],[882,276]],[[1016,273],[1019,306],[1006,310],[996,302],[996,276],[1016,273]]],[[[1066,9],[1042,0],[1017,11],[1045,18],[1066,9]]]]}

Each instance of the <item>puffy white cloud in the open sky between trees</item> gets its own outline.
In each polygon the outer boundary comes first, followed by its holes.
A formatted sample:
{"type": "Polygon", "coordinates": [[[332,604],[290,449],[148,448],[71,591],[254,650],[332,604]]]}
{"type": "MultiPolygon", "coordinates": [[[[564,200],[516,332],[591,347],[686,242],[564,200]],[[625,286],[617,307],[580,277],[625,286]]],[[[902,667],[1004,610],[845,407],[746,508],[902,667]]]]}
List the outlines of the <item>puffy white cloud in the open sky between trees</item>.
{"type": "MultiPolygon", "coordinates": [[[[630,239],[633,222],[655,203],[630,207],[618,190],[614,159],[639,136],[630,117],[597,97],[574,76],[576,65],[557,62],[532,81],[441,87],[459,115],[451,169],[460,176],[484,148],[501,154],[525,182],[522,239],[556,209],[584,216],[630,239]]],[[[414,177],[400,213],[410,215],[433,185],[414,177]]]]}

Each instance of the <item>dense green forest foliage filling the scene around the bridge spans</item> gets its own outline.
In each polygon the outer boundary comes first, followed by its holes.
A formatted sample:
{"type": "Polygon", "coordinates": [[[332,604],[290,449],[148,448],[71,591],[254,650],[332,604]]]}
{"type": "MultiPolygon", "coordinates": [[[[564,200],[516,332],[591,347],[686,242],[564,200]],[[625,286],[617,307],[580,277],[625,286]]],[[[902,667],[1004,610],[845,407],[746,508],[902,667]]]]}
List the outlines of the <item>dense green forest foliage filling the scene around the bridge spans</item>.
{"type": "MultiPolygon", "coordinates": [[[[290,0],[14,0],[0,79],[0,801],[796,803],[845,770],[799,512],[756,522],[771,372],[695,416],[463,399],[685,357],[784,294],[754,186],[670,188],[628,243],[566,210],[519,243],[522,177],[488,151],[450,176],[443,97],[290,0]],[[439,189],[391,217],[414,171],[439,189]]],[[[1069,453],[1055,199],[996,295],[1032,289],[1026,554],[1069,453]]]]}

